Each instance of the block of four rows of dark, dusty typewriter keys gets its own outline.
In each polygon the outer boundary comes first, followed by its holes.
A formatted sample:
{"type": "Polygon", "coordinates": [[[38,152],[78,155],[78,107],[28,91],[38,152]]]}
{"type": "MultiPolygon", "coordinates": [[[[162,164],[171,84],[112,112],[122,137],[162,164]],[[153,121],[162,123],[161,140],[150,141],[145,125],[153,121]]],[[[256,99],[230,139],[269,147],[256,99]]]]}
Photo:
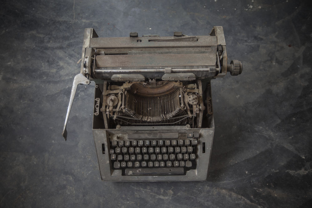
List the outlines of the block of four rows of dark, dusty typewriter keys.
{"type": "Polygon", "coordinates": [[[196,138],[110,141],[113,169],[182,167],[179,173],[183,174],[196,169],[196,157],[196,138]]]}

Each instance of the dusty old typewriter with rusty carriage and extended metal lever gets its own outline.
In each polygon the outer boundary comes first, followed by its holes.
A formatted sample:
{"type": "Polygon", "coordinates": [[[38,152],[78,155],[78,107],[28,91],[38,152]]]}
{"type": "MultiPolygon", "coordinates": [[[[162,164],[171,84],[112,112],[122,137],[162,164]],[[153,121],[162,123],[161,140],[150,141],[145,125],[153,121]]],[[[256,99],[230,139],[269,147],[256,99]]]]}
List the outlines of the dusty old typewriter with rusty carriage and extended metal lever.
{"type": "Polygon", "coordinates": [[[222,27],[209,36],[100,38],[84,33],[66,124],[79,84],[95,82],[93,137],[103,181],[205,180],[214,120],[210,81],[227,64],[222,27]]]}

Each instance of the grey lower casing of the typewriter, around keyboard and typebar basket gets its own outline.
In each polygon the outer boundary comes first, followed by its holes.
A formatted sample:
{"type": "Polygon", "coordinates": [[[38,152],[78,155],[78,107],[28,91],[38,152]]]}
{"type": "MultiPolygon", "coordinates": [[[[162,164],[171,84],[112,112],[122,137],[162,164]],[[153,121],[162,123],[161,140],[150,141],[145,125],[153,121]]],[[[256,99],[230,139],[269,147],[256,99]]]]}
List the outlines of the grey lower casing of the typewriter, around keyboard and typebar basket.
{"type": "MultiPolygon", "coordinates": [[[[123,126],[123,125],[107,125],[110,128],[105,128],[103,114],[98,114],[98,110],[102,107],[101,98],[103,87],[105,84],[97,83],[95,86],[95,114],[93,116],[93,137],[96,146],[96,152],[100,167],[101,178],[103,181],[203,181],[207,178],[208,165],[210,160],[210,154],[212,149],[212,140],[214,133],[214,120],[212,113],[212,103],[211,103],[211,87],[210,82],[203,83],[199,82],[199,91],[203,95],[202,99],[206,100],[206,110],[204,111],[204,118],[202,119],[202,128],[192,128],[191,125],[175,125],[175,126],[165,126],[165,125],[151,125],[151,126],[123,126]],[[111,141],[113,140],[123,140],[127,141],[135,140],[178,140],[178,139],[189,139],[189,133],[198,133],[197,138],[197,150],[196,150],[196,167],[187,167],[185,162],[185,168],[183,167],[133,167],[128,164],[127,167],[121,167],[120,169],[114,167],[115,162],[119,160],[111,160],[110,150],[114,150],[111,146],[111,141]],[[174,136],[172,136],[174,135],[174,136]],[[203,145],[204,143],[204,145],[203,145]],[[172,168],[172,169],[171,169],[172,168]],[[173,174],[176,169],[183,169],[183,173],[178,171],[178,173],[173,174]],[[194,169],[196,168],[196,169],[194,169]],[[149,169],[149,170],[148,170],[149,169]],[[168,171],[169,169],[169,171],[168,171]],[[161,171],[163,170],[163,172],[161,171]],[[171,171],[170,171],[171,170],[171,171]],[[129,175],[127,173],[131,173],[129,175]],[[151,172],[151,174],[149,174],[151,172]],[[142,173],[145,175],[142,175],[142,173]],[[159,174],[158,174],[159,173],[159,174]]],[[[198,114],[199,116],[199,114],[198,114]]],[[[110,119],[112,122],[112,119],[110,119]]],[[[195,138],[195,137],[194,137],[195,138]]],[[[182,146],[181,146],[182,147],[182,146]]],[[[169,150],[168,150],[169,152],[169,150]]],[[[182,152],[182,151],[181,151],[182,152]]],[[[143,153],[143,152],[142,152],[143,153]]],[[[114,154],[114,153],[113,153],[114,154]]],[[[188,154],[188,153],[187,153],[188,154]]],[[[135,156],[136,157],[136,156],[135,156]]],[[[124,159],[124,158],[123,158],[124,159]]],[[[162,161],[164,161],[163,159],[162,161]]],[[[184,157],[183,157],[184,160],[184,157]]],[[[123,161],[121,159],[121,161],[123,161]]],[[[120,162],[121,162],[120,161],[120,162]]],[[[135,161],[135,160],[134,160],[135,161]]],[[[134,162],[133,161],[133,162],[134,162]]],[[[141,160],[140,160],[141,161],[141,160]]],[[[167,160],[166,160],[167,161],[167,160]]],[[[175,160],[176,161],[176,160],[175,160]]],[[[180,160],[181,161],[181,160],[180,160]]],[[[185,161],[189,161],[188,159],[185,161]]],[[[124,159],[123,162],[126,162],[124,159]]],[[[127,160],[127,162],[131,162],[127,160]]],[[[142,162],[142,161],[141,161],[142,162]]],[[[145,162],[145,159],[144,159],[145,162]]],[[[150,161],[152,162],[152,161],[150,161]]],[[[156,161],[155,161],[156,162],[156,161]]],[[[193,164],[194,160],[192,160],[193,164]]],[[[170,166],[170,165],[169,165],[170,166]]],[[[179,165],[180,166],[180,165],[179,165]]]]}

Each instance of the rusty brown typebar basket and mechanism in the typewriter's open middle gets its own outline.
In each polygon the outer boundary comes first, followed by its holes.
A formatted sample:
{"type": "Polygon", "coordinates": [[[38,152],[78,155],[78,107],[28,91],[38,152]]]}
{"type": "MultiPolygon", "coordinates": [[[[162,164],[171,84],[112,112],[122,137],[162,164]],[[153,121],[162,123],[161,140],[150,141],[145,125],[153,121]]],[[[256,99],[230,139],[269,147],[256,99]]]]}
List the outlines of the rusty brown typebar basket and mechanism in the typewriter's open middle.
{"type": "MultiPolygon", "coordinates": [[[[183,86],[182,82],[156,80],[129,82],[122,86],[116,85],[117,83],[112,84],[104,93],[101,111],[106,112],[105,119],[113,118],[115,125],[185,126],[190,124],[194,128],[198,125],[194,123],[193,117],[202,115],[205,109],[203,103],[193,104],[193,107],[191,105],[193,114],[190,114],[190,107],[186,109],[189,104],[184,101],[183,96],[198,94],[197,85],[183,86]],[[108,104],[112,96],[115,99],[118,96],[117,107],[108,104]]],[[[114,105],[116,104],[117,100],[114,105]]]]}

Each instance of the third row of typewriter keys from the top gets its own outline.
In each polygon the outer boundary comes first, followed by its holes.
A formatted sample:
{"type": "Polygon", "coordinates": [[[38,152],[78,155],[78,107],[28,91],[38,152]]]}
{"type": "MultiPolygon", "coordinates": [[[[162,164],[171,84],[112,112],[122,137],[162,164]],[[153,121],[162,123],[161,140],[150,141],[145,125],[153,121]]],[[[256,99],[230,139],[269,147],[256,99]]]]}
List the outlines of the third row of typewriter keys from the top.
{"type": "Polygon", "coordinates": [[[195,160],[196,159],[196,155],[195,154],[177,154],[177,156],[175,154],[163,154],[163,155],[155,155],[155,154],[151,154],[151,155],[116,155],[116,154],[111,154],[110,155],[110,159],[111,160],[125,160],[125,161],[128,161],[128,160],[175,160],[176,158],[178,160],[188,160],[188,159],[191,159],[191,160],[195,160]]]}

